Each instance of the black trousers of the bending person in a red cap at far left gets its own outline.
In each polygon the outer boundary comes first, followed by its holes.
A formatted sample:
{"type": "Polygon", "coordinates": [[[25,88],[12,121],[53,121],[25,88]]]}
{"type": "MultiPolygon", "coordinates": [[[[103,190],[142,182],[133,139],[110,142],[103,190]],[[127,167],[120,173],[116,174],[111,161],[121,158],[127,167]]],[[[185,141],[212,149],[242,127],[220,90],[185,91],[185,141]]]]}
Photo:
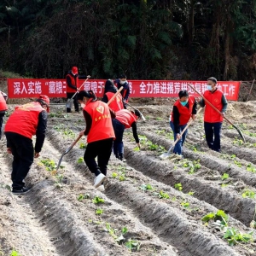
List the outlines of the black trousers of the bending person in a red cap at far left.
{"type": "Polygon", "coordinates": [[[14,156],[11,175],[13,189],[21,189],[25,185],[23,180],[29,172],[34,160],[32,139],[21,136],[15,132],[6,132],[5,137],[14,156]]]}

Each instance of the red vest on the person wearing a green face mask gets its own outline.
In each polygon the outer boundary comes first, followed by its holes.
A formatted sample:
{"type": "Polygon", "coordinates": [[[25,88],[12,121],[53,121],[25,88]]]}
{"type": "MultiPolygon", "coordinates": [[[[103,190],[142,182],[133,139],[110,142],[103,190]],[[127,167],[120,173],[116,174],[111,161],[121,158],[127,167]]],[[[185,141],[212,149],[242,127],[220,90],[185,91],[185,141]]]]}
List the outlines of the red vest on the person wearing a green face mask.
{"type": "MultiPolygon", "coordinates": [[[[189,96],[189,108],[183,106],[179,100],[177,100],[173,106],[177,107],[179,113],[179,125],[186,125],[189,122],[189,119],[192,115],[193,105],[195,103],[195,96],[189,96]]],[[[172,122],[173,122],[173,113],[172,122]]]]}

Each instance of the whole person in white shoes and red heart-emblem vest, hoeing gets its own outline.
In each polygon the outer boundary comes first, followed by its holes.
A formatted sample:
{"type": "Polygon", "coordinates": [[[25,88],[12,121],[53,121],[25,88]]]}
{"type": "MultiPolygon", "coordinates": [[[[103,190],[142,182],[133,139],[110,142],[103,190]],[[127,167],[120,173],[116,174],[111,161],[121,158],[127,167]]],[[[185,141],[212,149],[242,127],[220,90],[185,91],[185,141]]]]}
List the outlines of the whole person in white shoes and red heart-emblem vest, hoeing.
{"type": "Polygon", "coordinates": [[[114,131],[112,119],[115,113],[105,102],[98,101],[92,90],[81,90],[78,101],[83,108],[86,129],[80,136],[87,136],[87,147],[84,162],[90,172],[95,174],[94,187],[104,191],[104,180],[107,176],[108,160],[112,152],[114,131]],[[97,157],[97,163],[95,158],[97,157]]]}

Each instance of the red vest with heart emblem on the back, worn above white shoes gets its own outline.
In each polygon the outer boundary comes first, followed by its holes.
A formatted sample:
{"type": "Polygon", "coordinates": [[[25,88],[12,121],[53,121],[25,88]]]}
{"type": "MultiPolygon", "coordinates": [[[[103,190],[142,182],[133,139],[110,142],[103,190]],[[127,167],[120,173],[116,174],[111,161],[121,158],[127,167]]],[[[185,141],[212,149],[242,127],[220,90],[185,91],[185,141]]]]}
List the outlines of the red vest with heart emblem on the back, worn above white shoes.
{"type": "Polygon", "coordinates": [[[90,114],[92,119],[87,143],[101,141],[114,136],[112,119],[108,105],[105,102],[89,100],[84,110],[90,114]]]}

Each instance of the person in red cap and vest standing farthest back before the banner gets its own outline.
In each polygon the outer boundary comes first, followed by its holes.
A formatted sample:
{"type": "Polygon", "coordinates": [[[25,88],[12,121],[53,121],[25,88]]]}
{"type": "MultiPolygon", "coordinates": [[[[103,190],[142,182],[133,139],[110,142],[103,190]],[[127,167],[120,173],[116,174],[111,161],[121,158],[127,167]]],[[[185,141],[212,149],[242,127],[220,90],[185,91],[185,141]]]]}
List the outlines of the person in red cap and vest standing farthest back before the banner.
{"type": "MultiPolygon", "coordinates": [[[[66,83],[67,83],[67,101],[73,97],[73,95],[79,91],[79,79],[86,79],[86,76],[79,75],[78,67],[72,67],[72,69],[67,73],[66,83]]],[[[73,105],[75,112],[79,113],[79,102],[77,99],[77,94],[73,97],[73,105]]],[[[67,113],[71,113],[71,105],[67,105],[67,113]]]]}

